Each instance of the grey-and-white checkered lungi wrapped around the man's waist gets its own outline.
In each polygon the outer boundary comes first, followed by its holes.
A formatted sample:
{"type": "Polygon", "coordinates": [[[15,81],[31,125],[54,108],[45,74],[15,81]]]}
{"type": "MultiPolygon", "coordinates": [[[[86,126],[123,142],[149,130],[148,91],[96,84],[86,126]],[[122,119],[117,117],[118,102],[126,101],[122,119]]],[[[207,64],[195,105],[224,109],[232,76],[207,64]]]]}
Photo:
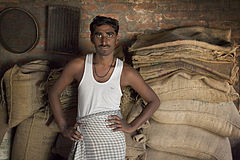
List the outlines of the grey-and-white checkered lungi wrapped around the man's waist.
{"type": "Polygon", "coordinates": [[[124,160],[126,154],[125,136],[122,131],[113,132],[105,120],[110,115],[121,116],[119,110],[105,111],[77,118],[83,126],[78,131],[83,140],[73,144],[68,160],[124,160]]]}

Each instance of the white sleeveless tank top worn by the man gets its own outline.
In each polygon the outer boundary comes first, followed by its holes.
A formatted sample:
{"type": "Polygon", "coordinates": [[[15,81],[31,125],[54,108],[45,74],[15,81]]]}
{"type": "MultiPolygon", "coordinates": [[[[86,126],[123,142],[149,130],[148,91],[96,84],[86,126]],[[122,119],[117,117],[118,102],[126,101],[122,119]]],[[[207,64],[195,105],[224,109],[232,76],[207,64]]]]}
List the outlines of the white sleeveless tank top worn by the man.
{"type": "Polygon", "coordinates": [[[111,77],[103,83],[93,77],[92,62],[93,54],[86,55],[83,77],[78,86],[78,117],[120,109],[123,62],[117,58],[111,77]]]}

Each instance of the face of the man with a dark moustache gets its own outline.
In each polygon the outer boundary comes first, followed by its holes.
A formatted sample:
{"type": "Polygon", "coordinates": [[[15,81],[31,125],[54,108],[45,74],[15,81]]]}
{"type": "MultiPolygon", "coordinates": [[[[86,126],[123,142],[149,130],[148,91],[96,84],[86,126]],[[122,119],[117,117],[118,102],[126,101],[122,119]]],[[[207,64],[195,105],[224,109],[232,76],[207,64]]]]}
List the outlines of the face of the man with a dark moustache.
{"type": "Polygon", "coordinates": [[[101,25],[96,26],[94,33],[91,35],[91,41],[95,46],[97,54],[107,56],[114,53],[118,36],[112,26],[101,25]]]}

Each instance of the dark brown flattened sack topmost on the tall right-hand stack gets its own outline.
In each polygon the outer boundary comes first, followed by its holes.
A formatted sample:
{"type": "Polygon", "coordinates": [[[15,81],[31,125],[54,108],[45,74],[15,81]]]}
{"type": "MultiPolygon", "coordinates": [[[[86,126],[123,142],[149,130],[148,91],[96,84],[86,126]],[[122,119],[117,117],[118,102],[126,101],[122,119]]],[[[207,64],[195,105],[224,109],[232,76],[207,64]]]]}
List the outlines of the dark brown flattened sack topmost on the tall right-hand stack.
{"type": "Polygon", "coordinates": [[[144,49],[156,44],[177,40],[198,40],[216,45],[227,45],[231,39],[231,30],[205,27],[181,27],[158,32],[141,34],[129,51],[144,49]]]}

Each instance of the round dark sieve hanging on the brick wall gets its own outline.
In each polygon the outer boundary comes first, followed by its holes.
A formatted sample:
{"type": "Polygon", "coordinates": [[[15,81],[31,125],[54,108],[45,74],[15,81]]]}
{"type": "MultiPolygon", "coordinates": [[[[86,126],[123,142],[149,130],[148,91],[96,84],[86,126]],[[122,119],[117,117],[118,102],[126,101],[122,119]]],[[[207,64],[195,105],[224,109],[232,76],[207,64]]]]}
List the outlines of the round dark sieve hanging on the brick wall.
{"type": "Polygon", "coordinates": [[[0,43],[12,53],[25,53],[35,47],[38,24],[32,14],[21,8],[7,8],[0,13],[0,43]]]}

